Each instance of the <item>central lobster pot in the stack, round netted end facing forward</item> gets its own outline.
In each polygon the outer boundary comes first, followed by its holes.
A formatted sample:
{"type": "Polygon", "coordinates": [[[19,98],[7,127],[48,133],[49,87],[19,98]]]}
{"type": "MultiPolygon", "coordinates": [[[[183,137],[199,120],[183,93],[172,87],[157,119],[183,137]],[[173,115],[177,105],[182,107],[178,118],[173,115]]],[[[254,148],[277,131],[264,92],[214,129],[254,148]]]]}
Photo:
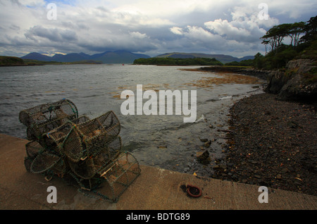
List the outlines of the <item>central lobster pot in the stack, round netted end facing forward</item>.
{"type": "Polygon", "coordinates": [[[61,154],[76,163],[105,149],[119,132],[118,118],[113,111],[108,111],[82,123],[68,122],[51,130],[44,138],[46,142],[53,140],[61,154]]]}

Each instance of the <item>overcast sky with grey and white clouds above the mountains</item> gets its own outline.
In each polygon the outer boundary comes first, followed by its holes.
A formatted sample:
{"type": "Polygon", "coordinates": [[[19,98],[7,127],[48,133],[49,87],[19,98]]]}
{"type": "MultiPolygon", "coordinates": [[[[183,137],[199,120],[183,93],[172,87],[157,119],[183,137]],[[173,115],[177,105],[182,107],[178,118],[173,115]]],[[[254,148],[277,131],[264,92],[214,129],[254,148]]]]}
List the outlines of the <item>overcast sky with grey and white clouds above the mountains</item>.
{"type": "Polygon", "coordinates": [[[259,38],[273,25],[316,12],[316,0],[0,0],[0,55],[124,49],[240,57],[265,52],[259,38]]]}

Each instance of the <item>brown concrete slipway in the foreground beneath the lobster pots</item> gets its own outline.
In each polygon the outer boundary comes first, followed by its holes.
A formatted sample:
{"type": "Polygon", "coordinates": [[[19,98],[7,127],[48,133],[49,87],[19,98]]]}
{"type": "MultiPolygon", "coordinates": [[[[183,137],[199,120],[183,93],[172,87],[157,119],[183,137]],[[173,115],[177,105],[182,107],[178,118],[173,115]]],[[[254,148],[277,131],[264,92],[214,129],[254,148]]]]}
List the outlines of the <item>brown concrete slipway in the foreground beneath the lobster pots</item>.
{"type": "Polygon", "coordinates": [[[0,209],[10,210],[316,210],[317,197],[269,189],[268,203],[259,203],[259,186],[199,178],[161,168],[140,166],[141,175],[117,203],[87,197],[60,178],[46,182],[24,166],[26,139],[0,134],[0,209]],[[181,185],[195,185],[201,197],[187,197],[181,185]],[[57,189],[57,203],[46,200],[47,187],[57,189]]]}

